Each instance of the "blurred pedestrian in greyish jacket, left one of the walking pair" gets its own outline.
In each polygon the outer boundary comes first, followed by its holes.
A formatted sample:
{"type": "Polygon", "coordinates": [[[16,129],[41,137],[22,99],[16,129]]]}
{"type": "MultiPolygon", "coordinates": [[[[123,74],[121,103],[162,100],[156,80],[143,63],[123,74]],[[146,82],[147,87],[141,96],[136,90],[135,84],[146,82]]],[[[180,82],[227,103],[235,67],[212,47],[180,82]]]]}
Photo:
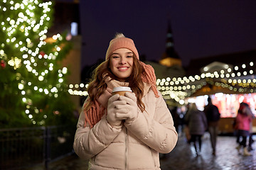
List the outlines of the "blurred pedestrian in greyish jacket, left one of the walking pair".
{"type": "Polygon", "coordinates": [[[196,107],[196,103],[191,103],[188,108],[188,129],[191,135],[191,142],[195,147],[196,155],[200,155],[202,136],[207,129],[206,115],[203,111],[199,111],[196,107]]]}

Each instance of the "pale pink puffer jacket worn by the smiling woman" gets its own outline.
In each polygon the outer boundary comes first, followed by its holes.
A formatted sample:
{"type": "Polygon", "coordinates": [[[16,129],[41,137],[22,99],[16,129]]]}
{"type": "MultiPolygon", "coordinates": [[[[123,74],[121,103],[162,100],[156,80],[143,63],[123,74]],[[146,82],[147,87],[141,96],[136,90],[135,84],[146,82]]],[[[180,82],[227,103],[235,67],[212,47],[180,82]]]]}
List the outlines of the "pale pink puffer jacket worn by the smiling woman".
{"type": "Polygon", "coordinates": [[[146,111],[129,125],[112,128],[106,116],[93,128],[84,128],[80,114],[74,149],[79,157],[90,159],[89,169],[160,169],[159,152],[174,149],[178,135],[171,113],[159,93],[150,89],[142,98],[146,111]]]}

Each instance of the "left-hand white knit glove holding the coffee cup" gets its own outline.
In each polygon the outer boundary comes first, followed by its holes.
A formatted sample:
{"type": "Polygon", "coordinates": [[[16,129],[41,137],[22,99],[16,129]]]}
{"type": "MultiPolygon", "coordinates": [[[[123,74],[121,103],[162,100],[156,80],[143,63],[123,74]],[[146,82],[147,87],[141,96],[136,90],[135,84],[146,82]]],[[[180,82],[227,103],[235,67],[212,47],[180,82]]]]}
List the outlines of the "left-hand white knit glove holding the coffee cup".
{"type": "Polygon", "coordinates": [[[118,106],[125,105],[126,101],[119,101],[119,94],[111,96],[107,103],[107,122],[112,126],[119,126],[122,124],[122,118],[118,118],[118,106]]]}

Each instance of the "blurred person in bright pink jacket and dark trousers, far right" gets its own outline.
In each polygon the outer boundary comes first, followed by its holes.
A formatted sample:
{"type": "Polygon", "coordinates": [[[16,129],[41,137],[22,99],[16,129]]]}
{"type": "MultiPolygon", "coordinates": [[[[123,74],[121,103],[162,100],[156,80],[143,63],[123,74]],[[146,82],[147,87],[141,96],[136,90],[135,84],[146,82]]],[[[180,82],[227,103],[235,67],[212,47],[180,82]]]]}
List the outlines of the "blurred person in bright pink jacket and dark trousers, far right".
{"type": "Polygon", "coordinates": [[[238,142],[238,153],[240,153],[240,149],[243,147],[243,155],[250,156],[250,152],[247,149],[247,137],[250,136],[252,123],[252,114],[250,108],[247,103],[240,103],[240,107],[238,108],[238,115],[235,118],[235,129],[237,130],[237,142],[238,142]],[[242,137],[242,140],[240,138],[242,137]]]}

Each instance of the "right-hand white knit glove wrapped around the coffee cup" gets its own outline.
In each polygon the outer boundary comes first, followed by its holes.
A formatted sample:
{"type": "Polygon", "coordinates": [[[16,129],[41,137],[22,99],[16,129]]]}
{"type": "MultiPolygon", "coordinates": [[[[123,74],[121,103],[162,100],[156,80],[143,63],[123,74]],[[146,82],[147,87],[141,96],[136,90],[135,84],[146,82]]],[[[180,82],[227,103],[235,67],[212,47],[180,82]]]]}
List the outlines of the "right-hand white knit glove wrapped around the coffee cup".
{"type": "Polygon", "coordinates": [[[137,97],[134,93],[126,92],[125,96],[119,96],[120,101],[125,101],[125,105],[118,105],[117,118],[125,119],[125,123],[132,123],[138,116],[137,97]]]}

